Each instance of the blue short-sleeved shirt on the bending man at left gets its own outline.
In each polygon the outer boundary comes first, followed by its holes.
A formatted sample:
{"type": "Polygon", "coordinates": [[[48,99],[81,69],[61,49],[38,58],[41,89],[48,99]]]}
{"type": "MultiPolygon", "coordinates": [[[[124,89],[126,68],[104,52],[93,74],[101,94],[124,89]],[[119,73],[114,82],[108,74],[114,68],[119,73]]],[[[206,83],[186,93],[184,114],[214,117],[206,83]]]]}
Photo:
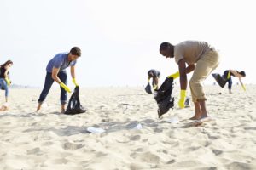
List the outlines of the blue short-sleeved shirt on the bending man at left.
{"type": "Polygon", "coordinates": [[[68,66],[76,65],[77,61],[68,61],[68,53],[56,54],[53,59],[49,60],[46,67],[47,72],[52,72],[53,67],[59,68],[60,72],[64,71],[68,66]]]}

